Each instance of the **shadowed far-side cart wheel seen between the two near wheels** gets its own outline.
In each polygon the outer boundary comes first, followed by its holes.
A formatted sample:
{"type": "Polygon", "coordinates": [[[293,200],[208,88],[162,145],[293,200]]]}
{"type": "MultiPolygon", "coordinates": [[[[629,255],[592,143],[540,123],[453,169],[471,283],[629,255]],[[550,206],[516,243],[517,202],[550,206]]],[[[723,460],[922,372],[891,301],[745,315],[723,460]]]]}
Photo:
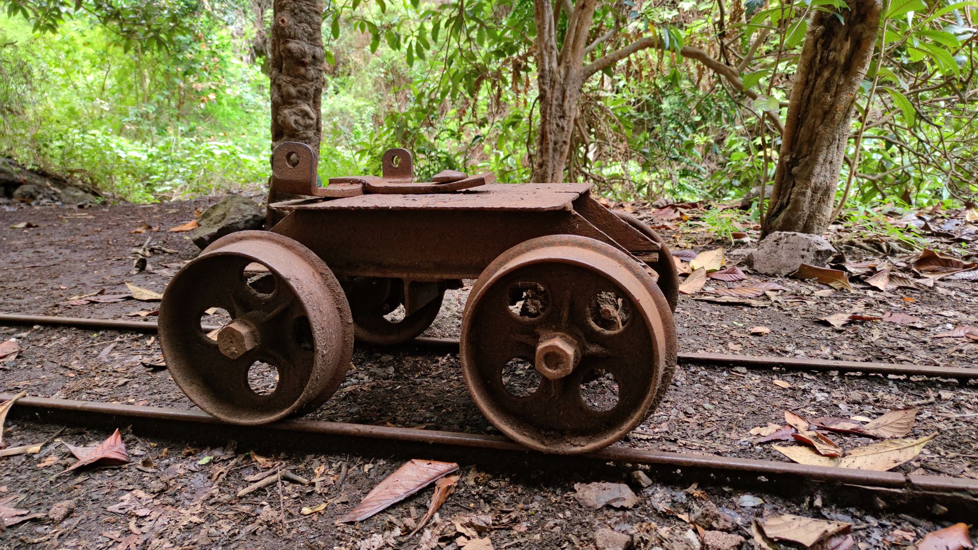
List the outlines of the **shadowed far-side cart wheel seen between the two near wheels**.
{"type": "Polygon", "coordinates": [[[399,278],[354,277],[344,281],[353,311],[357,340],[377,346],[395,346],[414,340],[431,325],[444,298],[442,290],[421,309],[405,315],[404,281],[399,278]]]}

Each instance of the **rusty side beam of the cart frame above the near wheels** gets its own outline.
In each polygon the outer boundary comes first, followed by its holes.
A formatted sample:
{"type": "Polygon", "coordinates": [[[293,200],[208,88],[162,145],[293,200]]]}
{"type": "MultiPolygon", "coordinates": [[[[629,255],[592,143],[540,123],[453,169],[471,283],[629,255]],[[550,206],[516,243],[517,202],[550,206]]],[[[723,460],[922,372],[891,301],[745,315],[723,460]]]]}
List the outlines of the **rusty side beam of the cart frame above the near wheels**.
{"type": "Polygon", "coordinates": [[[552,234],[628,252],[572,210],[295,210],[273,231],[308,246],[340,277],[477,278],[512,246],[552,234]]]}

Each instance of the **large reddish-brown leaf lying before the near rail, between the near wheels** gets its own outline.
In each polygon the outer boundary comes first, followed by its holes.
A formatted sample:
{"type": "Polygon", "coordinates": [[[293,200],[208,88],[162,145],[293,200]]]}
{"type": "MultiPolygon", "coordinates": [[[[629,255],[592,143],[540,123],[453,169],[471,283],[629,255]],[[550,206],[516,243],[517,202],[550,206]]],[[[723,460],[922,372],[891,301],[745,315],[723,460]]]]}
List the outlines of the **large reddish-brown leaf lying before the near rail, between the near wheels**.
{"type": "Polygon", "coordinates": [[[413,459],[404,463],[396,472],[387,476],[374,487],[356,508],[339,519],[342,523],[361,522],[400,502],[459,469],[454,462],[413,459]]]}

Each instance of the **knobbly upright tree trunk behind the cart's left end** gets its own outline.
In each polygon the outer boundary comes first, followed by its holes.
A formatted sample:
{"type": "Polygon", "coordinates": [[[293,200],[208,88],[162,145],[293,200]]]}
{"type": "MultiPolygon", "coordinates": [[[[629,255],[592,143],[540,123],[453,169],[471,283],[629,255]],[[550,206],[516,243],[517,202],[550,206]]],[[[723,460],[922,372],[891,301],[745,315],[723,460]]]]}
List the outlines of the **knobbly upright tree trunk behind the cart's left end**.
{"type": "MultiPolygon", "coordinates": [[[[323,133],[323,1],[275,0],[271,47],[272,148],[302,142],[319,151],[323,133]]],[[[268,203],[290,196],[269,188],[268,203]]],[[[268,227],[282,216],[268,209],[268,227]]]]}

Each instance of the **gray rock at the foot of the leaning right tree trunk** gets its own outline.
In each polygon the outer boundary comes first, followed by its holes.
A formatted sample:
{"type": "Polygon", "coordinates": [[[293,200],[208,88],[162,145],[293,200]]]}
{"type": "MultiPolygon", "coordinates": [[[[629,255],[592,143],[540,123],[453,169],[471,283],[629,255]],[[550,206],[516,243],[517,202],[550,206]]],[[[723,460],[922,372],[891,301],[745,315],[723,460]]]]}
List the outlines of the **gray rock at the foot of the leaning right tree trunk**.
{"type": "Polygon", "coordinates": [[[802,264],[824,266],[834,255],[835,249],[822,235],[775,232],[764,237],[747,263],[759,274],[788,275],[802,264]]]}

